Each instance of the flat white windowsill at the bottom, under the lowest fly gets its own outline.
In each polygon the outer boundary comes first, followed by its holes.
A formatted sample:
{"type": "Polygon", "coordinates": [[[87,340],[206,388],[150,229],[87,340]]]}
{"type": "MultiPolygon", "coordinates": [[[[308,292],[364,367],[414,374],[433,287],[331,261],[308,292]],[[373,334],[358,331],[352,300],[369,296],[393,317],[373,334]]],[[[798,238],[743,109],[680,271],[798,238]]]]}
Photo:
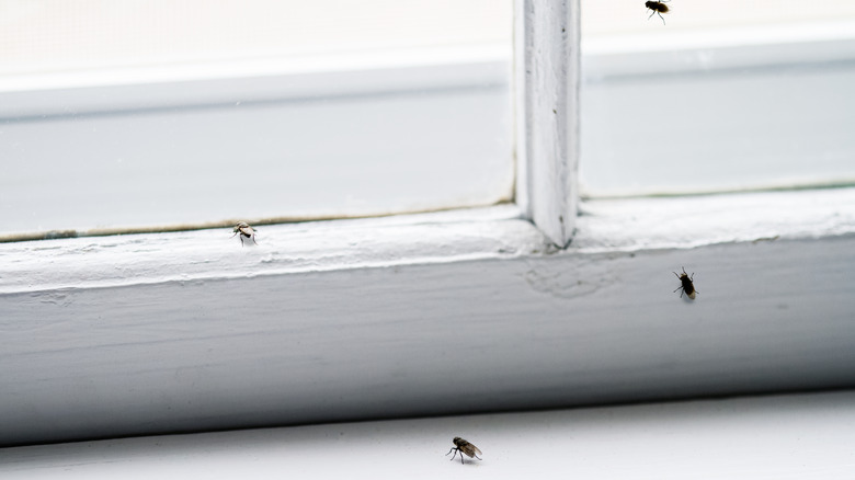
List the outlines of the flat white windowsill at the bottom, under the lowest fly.
{"type": "Polygon", "coordinates": [[[338,423],[0,450],[4,480],[850,479],[853,391],[338,423]],[[482,460],[444,456],[460,435],[482,460]]]}

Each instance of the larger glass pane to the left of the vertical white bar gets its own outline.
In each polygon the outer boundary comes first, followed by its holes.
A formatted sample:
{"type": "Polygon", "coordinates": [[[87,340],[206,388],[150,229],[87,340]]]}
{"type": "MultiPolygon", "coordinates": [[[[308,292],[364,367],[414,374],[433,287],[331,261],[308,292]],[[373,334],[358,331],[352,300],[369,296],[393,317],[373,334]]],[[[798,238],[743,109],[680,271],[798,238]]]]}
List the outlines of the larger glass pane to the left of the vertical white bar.
{"type": "Polygon", "coordinates": [[[0,235],[508,201],[511,12],[0,1],[0,235]]]}

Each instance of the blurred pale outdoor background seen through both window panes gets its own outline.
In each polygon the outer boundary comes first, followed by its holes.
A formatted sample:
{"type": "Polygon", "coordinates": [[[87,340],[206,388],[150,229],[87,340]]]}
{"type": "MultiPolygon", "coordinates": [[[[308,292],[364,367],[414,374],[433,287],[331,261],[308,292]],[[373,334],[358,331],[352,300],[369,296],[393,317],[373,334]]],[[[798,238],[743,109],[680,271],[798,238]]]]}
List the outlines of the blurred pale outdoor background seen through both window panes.
{"type": "MultiPolygon", "coordinates": [[[[855,181],[855,2],[582,1],[588,197],[855,181]]],[[[511,0],[0,0],[0,236],[513,198],[511,0]]]]}

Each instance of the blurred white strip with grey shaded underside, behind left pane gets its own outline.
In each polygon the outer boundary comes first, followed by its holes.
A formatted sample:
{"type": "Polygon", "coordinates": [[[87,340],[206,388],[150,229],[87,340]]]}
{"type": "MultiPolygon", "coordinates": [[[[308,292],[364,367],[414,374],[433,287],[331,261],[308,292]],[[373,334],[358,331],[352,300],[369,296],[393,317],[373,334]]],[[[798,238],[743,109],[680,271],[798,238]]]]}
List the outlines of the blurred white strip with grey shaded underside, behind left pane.
{"type": "Polygon", "coordinates": [[[510,46],[312,55],[0,79],[0,121],[231,106],[508,84],[510,46]]]}

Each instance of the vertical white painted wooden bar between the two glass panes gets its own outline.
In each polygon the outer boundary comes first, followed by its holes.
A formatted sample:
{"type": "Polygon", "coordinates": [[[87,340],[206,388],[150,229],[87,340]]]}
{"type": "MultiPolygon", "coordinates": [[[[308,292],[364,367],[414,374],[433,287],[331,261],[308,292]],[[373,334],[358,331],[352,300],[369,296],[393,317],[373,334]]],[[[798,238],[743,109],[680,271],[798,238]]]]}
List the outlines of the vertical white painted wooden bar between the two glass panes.
{"type": "Polygon", "coordinates": [[[517,194],[557,245],[573,235],[579,157],[578,0],[518,0],[515,15],[517,194]]]}

